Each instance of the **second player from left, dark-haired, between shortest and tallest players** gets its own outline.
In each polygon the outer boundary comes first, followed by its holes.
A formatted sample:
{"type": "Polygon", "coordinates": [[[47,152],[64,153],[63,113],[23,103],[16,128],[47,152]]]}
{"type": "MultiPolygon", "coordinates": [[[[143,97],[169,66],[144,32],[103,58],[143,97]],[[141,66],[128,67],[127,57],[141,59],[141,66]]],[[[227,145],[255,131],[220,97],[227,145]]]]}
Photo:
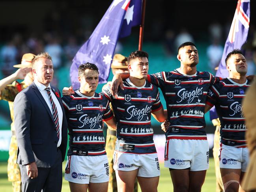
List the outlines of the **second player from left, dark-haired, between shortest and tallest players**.
{"type": "Polygon", "coordinates": [[[137,177],[145,192],[156,192],[160,168],[153,142],[151,113],[163,122],[163,106],[157,86],[146,81],[148,54],[132,52],[128,57],[129,78],[123,80],[123,90],[116,97],[110,89],[103,92],[111,101],[117,122],[117,141],[114,152],[118,191],[132,192],[137,177]]]}

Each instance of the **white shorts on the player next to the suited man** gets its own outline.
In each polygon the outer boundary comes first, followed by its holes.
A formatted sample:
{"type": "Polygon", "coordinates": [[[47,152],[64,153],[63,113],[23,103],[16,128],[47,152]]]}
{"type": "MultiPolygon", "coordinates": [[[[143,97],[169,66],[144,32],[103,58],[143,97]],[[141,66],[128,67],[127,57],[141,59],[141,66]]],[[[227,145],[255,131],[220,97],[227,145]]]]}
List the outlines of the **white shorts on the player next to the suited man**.
{"type": "Polygon", "coordinates": [[[67,156],[67,167],[70,173],[65,173],[65,180],[73,183],[105,183],[109,180],[107,155],[67,156]]]}

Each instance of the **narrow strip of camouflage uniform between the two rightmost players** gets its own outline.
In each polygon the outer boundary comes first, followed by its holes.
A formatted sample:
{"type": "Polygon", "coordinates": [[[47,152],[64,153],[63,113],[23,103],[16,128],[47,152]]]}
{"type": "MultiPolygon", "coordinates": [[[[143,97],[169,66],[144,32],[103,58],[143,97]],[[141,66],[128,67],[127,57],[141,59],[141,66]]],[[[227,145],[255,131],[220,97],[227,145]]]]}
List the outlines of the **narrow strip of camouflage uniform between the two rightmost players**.
{"type": "Polygon", "coordinates": [[[213,119],[212,123],[216,126],[214,132],[213,140],[213,159],[215,164],[215,175],[216,175],[216,192],[223,192],[224,187],[220,175],[220,161],[219,161],[219,151],[220,151],[220,120],[219,118],[213,119]]]}

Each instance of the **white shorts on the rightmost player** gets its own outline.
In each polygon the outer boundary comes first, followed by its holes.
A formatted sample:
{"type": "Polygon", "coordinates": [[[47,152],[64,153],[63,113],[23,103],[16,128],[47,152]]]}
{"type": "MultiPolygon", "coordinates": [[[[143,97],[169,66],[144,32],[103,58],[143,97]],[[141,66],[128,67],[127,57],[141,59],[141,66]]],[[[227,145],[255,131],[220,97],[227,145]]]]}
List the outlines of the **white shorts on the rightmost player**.
{"type": "Polygon", "coordinates": [[[245,172],[249,162],[248,148],[237,148],[220,144],[220,168],[241,169],[245,172]]]}

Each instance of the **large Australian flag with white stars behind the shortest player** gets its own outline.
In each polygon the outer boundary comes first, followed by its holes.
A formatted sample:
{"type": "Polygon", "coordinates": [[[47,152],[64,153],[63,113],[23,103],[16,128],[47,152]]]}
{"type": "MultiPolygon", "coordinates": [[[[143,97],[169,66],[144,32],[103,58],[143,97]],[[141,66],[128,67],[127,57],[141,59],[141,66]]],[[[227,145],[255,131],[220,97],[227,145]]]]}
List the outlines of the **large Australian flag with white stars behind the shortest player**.
{"type": "Polygon", "coordinates": [[[78,67],[90,62],[99,68],[99,83],[106,83],[116,43],[131,34],[131,28],[141,22],[142,0],[114,0],[93,31],[78,50],[70,67],[73,89],[78,89],[78,67]]]}

